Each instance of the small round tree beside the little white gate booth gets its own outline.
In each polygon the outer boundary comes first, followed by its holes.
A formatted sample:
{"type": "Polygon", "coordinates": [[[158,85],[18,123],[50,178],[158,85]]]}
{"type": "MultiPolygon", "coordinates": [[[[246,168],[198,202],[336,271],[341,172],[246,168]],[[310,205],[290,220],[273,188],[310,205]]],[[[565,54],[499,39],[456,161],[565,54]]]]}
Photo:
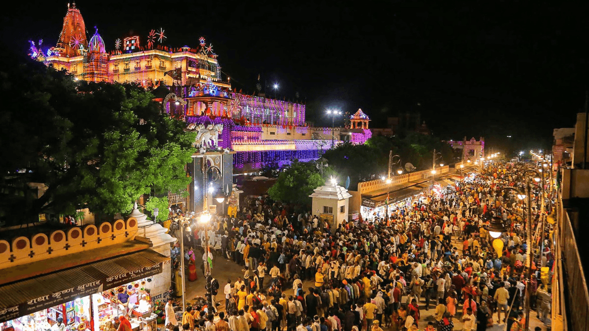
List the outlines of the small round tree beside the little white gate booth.
{"type": "Polygon", "coordinates": [[[324,184],[315,163],[294,160],[280,173],[268,194],[274,200],[286,203],[309,204],[313,190],[324,184]]]}

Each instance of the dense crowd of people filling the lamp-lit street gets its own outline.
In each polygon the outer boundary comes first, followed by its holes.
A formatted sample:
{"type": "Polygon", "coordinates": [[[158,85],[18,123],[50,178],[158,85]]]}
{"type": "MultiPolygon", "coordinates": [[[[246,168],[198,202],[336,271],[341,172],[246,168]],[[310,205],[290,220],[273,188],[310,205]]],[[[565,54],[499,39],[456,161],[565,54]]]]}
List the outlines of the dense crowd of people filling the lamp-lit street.
{"type": "MultiPolygon", "coordinates": [[[[492,163],[455,186],[389,206],[388,217],[336,229],[268,196],[249,198],[237,217],[214,219],[184,236],[188,250],[178,259],[193,272],[200,266],[204,273],[208,259],[223,256],[241,264],[244,274],[223,281],[222,292],[214,280],[215,302],[223,295],[226,306],[219,318],[209,314],[214,308],[196,305],[178,322],[185,330],[206,331],[447,331],[457,321],[467,331],[494,323],[523,330],[527,285],[531,307],[547,321],[550,278],[540,269],[550,270],[553,259],[550,224],[541,227],[540,187],[532,189],[532,234],[541,234],[532,244],[530,284],[525,200],[504,189],[523,187],[523,170],[531,166],[492,163]],[[485,230],[492,217],[507,228],[501,247],[485,230]],[[204,253],[206,240],[214,254],[204,253]],[[422,319],[429,309],[433,318],[422,319]]],[[[167,322],[173,329],[172,316],[167,322]]]]}

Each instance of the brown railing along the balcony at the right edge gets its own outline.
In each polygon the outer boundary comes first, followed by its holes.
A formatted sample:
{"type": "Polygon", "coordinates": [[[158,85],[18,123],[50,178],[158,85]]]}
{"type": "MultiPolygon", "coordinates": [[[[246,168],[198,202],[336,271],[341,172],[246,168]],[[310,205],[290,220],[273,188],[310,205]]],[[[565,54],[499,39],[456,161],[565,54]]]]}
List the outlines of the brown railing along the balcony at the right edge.
{"type": "Polygon", "coordinates": [[[573,225],[567,210],[562,210],[560,247],[562,252],[562,266],[565,292],[568,294],[567,315],[570,325],[568,330],[589,330],[589,291],[587,280],[583,272],[581,257],[577,247],[577,240],[573,225]]]}

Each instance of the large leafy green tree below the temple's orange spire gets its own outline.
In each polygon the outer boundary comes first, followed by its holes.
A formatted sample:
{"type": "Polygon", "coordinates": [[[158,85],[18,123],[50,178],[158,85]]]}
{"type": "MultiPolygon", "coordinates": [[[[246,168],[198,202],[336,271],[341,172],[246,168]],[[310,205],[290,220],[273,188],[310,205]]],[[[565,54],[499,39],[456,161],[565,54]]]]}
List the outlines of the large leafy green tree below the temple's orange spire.
{"type": "Polygon", "coordinates": [[[0,71],[0,221],[86,207],[127,213],[141,194],[176,193],[190,183],[184,166],[194,134],[143,88],[75,81],[38,62],[12,61],[0,71]],[[38,194],[32,183],[46,190],[38,194]]]}

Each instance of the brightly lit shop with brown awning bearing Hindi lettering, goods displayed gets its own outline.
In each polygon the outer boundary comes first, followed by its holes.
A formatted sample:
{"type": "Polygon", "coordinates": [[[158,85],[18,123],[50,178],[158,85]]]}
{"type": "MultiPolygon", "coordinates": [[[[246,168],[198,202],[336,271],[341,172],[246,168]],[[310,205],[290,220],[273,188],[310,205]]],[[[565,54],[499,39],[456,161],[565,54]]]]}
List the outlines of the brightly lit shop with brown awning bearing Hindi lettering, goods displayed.
{"type": "Polygon", "coordinates": [[[169,258],[147,249],[0,286],[0,330],[106,331],[116,316],[133,330],[152,331],[157,315],[153,276],[169,258]]]}

